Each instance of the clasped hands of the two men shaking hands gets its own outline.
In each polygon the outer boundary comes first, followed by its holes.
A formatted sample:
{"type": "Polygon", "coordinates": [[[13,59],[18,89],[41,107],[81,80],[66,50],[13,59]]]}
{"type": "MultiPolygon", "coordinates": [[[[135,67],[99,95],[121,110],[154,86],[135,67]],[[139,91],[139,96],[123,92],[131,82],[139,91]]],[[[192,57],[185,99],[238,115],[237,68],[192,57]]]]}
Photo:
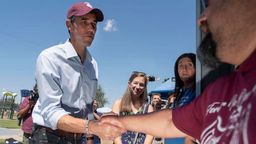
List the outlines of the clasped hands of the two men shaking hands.
{"type": "Polygon", "coordinates": [[[114,112],[104,113],[99,120],[92,120],[88,132],[99,136],[100,139],[114,140],[126,132],[120,117],[114,112]]]}

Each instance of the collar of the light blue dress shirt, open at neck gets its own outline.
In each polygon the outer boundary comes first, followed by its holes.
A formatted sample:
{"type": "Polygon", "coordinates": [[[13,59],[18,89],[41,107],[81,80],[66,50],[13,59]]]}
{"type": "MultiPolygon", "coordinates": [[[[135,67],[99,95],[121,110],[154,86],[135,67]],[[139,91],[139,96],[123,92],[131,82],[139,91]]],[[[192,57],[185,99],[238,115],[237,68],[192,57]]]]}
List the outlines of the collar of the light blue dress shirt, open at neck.
{"type": "MultiPolygon", "coordinates": [[[[75,51],[75,48],[70,43],[70,39],[67,39],[67,41],[64,43],[64,45],[65,45],[67,59],[76,57],[76,56],[78,57],[77,52],[75,51]]],[[[86,48],[86,52],[85,52],[85,61],[92,61],[91,54],[87,48],[86,48]]]]}

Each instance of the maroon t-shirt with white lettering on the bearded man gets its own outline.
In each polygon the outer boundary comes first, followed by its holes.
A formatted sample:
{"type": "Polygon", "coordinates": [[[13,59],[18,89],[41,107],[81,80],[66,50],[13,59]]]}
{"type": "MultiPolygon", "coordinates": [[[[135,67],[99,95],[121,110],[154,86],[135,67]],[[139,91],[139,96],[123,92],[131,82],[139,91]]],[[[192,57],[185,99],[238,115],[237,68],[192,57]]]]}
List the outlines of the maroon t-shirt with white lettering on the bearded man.
{"type": "Polygon", "coordinates": [[[172,117],[176,128],[201,144],[255,144],[256,51],[172,117]]]}

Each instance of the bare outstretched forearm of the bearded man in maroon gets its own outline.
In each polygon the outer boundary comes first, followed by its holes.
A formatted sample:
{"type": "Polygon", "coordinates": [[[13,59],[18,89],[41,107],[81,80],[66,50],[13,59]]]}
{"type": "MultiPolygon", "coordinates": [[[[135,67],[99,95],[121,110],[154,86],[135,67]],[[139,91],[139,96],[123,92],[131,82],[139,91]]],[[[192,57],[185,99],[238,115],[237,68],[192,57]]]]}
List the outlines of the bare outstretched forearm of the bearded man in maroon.
{"type": "Polygon", "coordinates": [[[139,131],[164,138],[187,136],[173,125],[172,109],[163,109],[144,115],[127,115],[119,117],[119,119],[128,131],[139,131]],[[160,125],[152,125],[155,122],[160,123],[160,125]]]}

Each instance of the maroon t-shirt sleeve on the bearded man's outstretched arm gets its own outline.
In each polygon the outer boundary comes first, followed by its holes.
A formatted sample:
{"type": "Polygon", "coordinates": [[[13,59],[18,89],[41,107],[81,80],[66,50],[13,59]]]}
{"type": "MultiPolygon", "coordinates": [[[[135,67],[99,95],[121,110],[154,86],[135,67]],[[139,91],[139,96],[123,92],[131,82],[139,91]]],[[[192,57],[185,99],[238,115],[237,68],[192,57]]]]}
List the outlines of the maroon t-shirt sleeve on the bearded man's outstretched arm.
{"type": "Polygon", "coordinates": [[[204,96],[200,95],[189,104],[173,109],[173,124],[183,133],[200,139],[204,105],[204,96]]]}

